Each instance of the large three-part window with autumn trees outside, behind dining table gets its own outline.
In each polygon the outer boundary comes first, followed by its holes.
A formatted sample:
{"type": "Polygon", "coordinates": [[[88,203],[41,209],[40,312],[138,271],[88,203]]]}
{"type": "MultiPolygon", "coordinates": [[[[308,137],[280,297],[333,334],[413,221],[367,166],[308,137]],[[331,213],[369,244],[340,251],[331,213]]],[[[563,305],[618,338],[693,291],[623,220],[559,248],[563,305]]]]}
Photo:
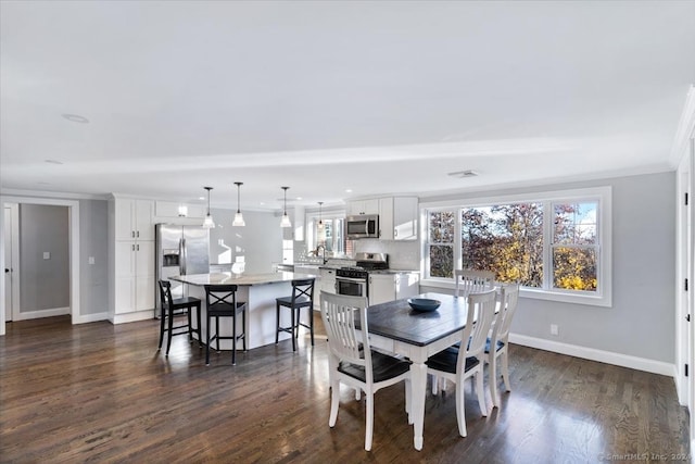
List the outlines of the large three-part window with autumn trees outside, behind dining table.
{"type": "Polygon", "coordinates": [[[425,204],[424,285],[492,271],[525,297],[610,305],[610,188],[425,204]]]}

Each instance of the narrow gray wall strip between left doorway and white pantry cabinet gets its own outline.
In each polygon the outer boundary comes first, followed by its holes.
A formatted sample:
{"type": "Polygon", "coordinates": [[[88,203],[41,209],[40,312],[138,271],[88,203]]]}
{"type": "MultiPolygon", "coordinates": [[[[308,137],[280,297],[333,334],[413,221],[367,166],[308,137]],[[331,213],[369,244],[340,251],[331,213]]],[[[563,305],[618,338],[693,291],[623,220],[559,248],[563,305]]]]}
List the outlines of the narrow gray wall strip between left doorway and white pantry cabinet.
{"type": "Polygon", "coordinates": [[[80,314],[109,311],[109,202],[79,201],[80,314]],[[94,264],[89,264],[89,258],[94,264]]]}

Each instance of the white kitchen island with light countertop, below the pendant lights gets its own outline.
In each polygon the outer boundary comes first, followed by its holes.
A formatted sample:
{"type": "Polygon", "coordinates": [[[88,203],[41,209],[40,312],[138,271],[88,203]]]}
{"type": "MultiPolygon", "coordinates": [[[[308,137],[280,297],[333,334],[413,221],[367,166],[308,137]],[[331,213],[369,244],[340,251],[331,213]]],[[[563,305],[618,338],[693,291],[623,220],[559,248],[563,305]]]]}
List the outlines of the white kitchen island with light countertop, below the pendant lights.
{"type": "MultiPolygon", "coordinates": [[[[207,317],[205,304],[205,285],[236,285],[237,301],[247,302],[247,348],[253,349],[265,344],[275,343],[276,313],[275,299],[292,294],[292,280],[296,278],[316,277],[299,273],[268,273],[236,275],[232,273],[192,274],[169,277],[186,284],[188,296],[200,298],[201,304],[201,334],[203,341],[207,339],[207,317]]],[[[316,299],[316,289],[314,299],[316,299]]],[[[280,325],[290,325],[290,313],[280,312],[280,325]]],[[[239,326],[239,325],[238,325],[239,326]]],[[[239,328],[239,327],[238,327],[239,328]]],[[[231,335],[231,318],[223,318],[219,322],[222,335],[231,335]]],[[[239,330],[240,331],[240,330],[239,330]]],[[[289,334],[280,333],[280,339],[287,339],[289,334]]],[[[231,340],[220,340],[219,348],[231,350],[231,340]]],[[[237,344],[239,349],[239,344],[237,344]]]]}

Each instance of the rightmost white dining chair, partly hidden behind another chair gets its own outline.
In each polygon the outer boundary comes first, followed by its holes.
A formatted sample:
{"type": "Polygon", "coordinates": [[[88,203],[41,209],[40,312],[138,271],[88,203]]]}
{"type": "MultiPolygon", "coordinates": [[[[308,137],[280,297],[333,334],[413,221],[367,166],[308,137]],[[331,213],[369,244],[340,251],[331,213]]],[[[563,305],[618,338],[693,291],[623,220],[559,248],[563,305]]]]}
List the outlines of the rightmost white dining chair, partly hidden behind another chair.
{"type": "Polygon", "coordinates": [[[497,358],[502,358],[502,378],[507,391],[511,391],[509,384],[509,328],[517,311],[519,302],[519,284],[507,284],[502,287],[500,296],[500,311],[495,316],[491,336],[485,342],[485,363],[490,365],[488,369],[488,384],[490,385],[490,396],[494,407],[500,407],[497,398],[497,358]]]}

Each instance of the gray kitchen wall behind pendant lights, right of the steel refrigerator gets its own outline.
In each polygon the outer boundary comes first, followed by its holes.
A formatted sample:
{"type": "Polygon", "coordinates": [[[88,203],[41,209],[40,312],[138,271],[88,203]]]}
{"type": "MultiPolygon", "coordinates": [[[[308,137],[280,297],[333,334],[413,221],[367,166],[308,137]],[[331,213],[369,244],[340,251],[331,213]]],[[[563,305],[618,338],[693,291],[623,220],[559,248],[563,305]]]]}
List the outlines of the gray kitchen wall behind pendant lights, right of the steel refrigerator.
{"type": "Polygon", "coordinates": [[[244,227],[232,227],[236,210],[211,210],[215,228],[210,229],[210,262],[233,263],[245,259],[245,274],[273,272],[282,260],[282,228],[274,213],[243,211],[244,227]],[[222,240],[222,243],[220,243],[222,240]]]}

